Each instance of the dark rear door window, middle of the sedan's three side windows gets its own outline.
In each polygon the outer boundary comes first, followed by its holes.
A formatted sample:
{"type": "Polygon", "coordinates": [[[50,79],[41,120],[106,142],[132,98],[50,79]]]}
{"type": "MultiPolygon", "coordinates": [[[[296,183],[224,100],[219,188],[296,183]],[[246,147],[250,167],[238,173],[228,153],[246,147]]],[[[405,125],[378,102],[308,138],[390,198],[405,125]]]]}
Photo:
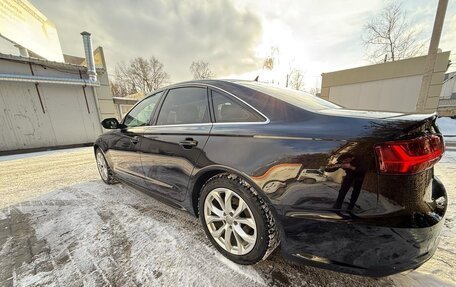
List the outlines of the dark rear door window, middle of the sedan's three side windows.
{"type": "Polygon", "coordinates": [[[199,87],[169,90],[157,119],[157,125],[209,122],[207,91],[199,87]]]}

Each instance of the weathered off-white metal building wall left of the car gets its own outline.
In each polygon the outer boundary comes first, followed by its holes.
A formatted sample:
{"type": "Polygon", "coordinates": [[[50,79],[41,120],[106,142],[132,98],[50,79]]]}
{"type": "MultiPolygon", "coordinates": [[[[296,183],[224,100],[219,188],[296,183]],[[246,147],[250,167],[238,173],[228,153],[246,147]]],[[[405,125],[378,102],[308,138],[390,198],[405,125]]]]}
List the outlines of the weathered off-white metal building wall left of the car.
{"type": "MultiPolygon", "coordinates": [[[[39,75],[68,72],[33,66],[39,75]]],[[[0,60],[0,73],[30,74],[28,63],[0,60]]],[[[79,77],[73,72],[73,77],[79,77]]],[[[0,82],[0,152],[93,142],[102,129],[93,88],[0,82]],[[41,98],[41,101],[40,101],[41,98]],[[87,98],[87,101],[86,101],[87,98]]]]}

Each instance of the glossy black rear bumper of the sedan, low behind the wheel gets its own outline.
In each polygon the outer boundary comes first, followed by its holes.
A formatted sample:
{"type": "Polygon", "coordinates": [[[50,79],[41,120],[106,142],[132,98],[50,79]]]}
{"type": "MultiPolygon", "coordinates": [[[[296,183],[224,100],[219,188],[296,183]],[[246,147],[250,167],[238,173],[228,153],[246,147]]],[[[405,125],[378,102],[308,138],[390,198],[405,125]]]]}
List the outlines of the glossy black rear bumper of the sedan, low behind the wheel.
{"type": "MultiPolygon", "coordinates": [[[[446,200],[438,179],[433,193],[446,200]]],[[[409,214],[401,227],[385,224],[385,218],[375,223],[349,214],[342,214],[345,220],[284,216],[282,251],[299,263],[357,275],[380,277],[415,269],[437,249],[445,209],[409,214]]]]}

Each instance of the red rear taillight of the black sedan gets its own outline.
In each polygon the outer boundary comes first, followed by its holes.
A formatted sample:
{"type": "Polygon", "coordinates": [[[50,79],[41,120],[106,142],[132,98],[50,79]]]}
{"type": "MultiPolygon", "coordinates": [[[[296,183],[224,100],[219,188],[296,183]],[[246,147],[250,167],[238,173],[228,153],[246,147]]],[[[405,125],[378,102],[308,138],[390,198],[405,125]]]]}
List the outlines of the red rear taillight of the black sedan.
{"type": "Polygon", "coordinates": [[[444,150],[443,138],[438,135],[375,146],[378,170],[382,174],[414,174],[426,170],[439,161],[444,150]]]}

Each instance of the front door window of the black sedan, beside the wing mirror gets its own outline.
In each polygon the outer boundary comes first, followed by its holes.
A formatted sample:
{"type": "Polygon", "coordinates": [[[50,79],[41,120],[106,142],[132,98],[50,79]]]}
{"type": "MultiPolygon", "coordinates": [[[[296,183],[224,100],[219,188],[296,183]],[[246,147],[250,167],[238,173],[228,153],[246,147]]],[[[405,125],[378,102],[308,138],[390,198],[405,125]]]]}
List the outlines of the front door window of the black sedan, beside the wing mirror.
{"type": "Polygon", "coordinates": [[[130,112],[128,112],[124,120],[124,125],[130,128],[149,125],[155,106],[160,100],[162,94],[163,92],[156,93],[137,104],[130,110],[130,112]]]}

